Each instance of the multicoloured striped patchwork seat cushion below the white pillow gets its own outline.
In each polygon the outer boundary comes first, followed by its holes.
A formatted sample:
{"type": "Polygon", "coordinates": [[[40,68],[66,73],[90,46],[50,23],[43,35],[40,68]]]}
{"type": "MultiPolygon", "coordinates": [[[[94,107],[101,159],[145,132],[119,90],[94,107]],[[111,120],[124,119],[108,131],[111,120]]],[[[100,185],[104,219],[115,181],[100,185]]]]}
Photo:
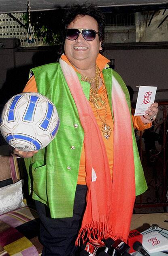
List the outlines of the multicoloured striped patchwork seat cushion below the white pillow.
{"type": "Polygon", "coordinates": [[[38,256],[39,218],[28,206],[0,216],[0,256],[38,256]]]}

